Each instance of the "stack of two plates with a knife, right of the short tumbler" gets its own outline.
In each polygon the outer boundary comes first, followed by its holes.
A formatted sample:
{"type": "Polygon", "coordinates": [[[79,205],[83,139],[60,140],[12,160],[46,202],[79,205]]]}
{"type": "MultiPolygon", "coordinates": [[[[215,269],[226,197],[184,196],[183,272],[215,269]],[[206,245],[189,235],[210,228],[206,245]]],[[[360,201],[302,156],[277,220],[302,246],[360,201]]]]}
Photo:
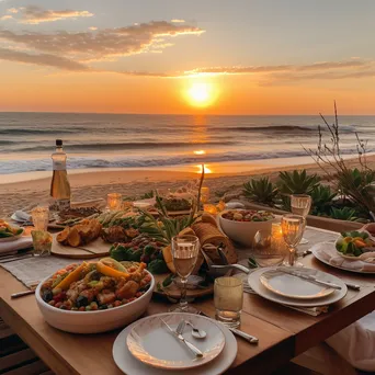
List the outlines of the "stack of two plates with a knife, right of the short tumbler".
{"type": "Polygon", "coordinates": [[[264,268],[249,274],[248,282],[260,296],[280,304],[298,307],[331,305],[342,299],[348,292],[346,285],[340,279],[319,270],[306,268],[264,268]],[[299,275],[314,276],[328,285],[303,279],[299,275]],[[340,288],[330,287],[330,283],[340,288]]]}

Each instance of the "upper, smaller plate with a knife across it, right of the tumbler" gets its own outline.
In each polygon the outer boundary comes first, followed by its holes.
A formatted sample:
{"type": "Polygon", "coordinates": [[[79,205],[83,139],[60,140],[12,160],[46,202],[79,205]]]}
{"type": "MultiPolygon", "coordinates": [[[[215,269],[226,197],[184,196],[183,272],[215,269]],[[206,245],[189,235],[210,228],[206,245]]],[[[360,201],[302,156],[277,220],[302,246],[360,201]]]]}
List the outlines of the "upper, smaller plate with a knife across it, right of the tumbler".
{"type": "MultiPolygon", "coordinates": [[[[322,298],[333,293],[329,286],[318,285],[308,280],[287,274],[281,269],[270,270],[260,276],[261,283],[271,292],[289,298],[312,299],[322,298]]],[[[297,272],[306,272],[304,269],[297,272]]]]}

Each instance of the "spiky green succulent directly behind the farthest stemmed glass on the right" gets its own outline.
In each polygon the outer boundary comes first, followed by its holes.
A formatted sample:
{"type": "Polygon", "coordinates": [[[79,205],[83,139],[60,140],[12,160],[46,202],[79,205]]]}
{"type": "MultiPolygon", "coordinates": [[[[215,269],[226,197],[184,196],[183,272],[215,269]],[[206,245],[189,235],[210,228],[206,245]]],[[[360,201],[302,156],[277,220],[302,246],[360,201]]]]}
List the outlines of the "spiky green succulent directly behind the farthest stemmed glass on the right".
{"type": "Polygon", "coordinates": [[[308,175],[306,169],[298,172],[280,172],[280,191],[284,194],[311,194],[318,186],[320,178],[315,173],[308,175]]]}

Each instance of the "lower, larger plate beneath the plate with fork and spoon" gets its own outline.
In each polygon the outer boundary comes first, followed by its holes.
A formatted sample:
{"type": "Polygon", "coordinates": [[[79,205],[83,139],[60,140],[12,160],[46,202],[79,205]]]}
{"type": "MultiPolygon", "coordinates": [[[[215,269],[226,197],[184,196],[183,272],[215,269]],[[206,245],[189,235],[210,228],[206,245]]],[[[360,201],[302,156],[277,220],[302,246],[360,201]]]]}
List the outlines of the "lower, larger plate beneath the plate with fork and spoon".
{"type": "MultiPolygon", "coordinates": [[[[155,316],[160,316],[164,318],[169,314],[158,314],[155,316]]],[[[191,314],[181,314],[186,319],[191,319],[193,315],[191,314]]],[[[200,316],[201,317],[201,316],[200,316]]],[[[228,330],[228,328],[224,327],[219,322],[212,320],[206,317],[201,317],[204,325],[207,322],[215,322],[225,336],[225,346],[220,355],[218,355],[214,361],[201,366],[191,370],[184,370],[183,375],[217,375],[223,374],[236,359],[237,355],[237,340],[234,334],[228,330]]],[[[140,319],[138,321],[143,321],[147,318],[140,319]]],[[[113,344],[113,360],[116,363],[117,367],[127,375],[166,375],[166,370],[154,368],[148,366],[145,363],[136,360],[129,350],[126,346],[126,338],[128,333],[132,331],[133,327],[138,323],[138,321],[133,325],[126,327],[116,338],[113,344]]],[[[177,343],[178,344],[178,343],[177,343]]],[[[169,370],[168,375],[181,375],[181,370],[169,370]]]]}

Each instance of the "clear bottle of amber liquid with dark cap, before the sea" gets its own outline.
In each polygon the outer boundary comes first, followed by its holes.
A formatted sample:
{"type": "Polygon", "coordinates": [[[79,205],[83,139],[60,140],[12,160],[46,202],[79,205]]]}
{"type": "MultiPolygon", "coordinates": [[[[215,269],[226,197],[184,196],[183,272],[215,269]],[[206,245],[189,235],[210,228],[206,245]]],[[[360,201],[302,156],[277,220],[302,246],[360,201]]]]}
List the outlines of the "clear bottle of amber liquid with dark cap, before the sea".
{"type": "Polygon", "coordinates": [[[70,183],[67,173],[67,155],[63,150],[63,140],[56,139],[56,151],[52,155],[54,174],[50,183],[50,196],[57,211],[70,207],[70,183]]]}

